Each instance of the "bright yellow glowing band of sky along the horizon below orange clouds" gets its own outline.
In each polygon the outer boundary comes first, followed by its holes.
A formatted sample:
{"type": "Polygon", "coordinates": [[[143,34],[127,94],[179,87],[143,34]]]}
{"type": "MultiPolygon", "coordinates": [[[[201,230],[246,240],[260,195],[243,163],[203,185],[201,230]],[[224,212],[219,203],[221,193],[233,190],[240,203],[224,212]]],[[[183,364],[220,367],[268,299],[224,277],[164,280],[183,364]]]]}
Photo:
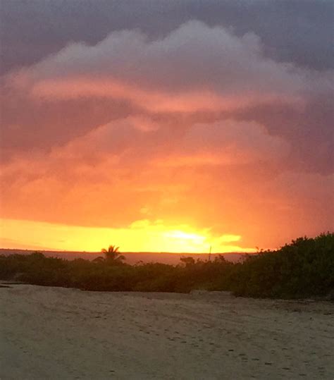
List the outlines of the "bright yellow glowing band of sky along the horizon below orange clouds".
{"type": "Polygon", "coordinates": [[[214,237],[209,230],[194,231],[190,226],[165,226],[163,221],[140,220],[128,228],[67,226],[0,219],[0,247],[39,250],[98,252],[102,247],[118,245],[123,252],[254,252],[235,243],[240,235],[214,237]],[[18,231],[20,235],[18,236],[18,231]]]}

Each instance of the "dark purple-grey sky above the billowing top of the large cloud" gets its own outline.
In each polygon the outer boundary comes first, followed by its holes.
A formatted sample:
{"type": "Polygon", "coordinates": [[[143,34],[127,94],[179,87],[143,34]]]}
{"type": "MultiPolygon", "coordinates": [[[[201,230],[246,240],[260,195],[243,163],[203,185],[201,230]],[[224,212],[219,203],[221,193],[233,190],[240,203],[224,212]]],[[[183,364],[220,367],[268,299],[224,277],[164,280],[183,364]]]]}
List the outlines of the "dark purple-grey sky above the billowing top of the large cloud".
{"type": "Polygon", "coordinates": [[[1,71],[36,63],[69,42],[96,44],[122,29],[156,38],[192,19],[236,35],[254,32],[277,61],[333,68],[331,0],[1,0],[1,71]]]}

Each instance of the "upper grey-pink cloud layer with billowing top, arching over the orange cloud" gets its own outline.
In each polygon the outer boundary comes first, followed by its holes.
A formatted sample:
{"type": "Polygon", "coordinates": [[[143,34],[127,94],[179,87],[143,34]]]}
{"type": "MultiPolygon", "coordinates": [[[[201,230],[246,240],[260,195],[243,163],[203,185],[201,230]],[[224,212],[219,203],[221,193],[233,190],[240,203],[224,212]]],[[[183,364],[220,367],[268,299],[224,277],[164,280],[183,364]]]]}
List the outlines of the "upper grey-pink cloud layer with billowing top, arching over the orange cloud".
{"type": "Polygon", "coordinates": [[[130,114],[178,128],[237,118],[290,142],[299,170],[333,171],[333,74],[268,59],[254,33],[198,21],[156,39],[118,31],[8,78],[3,154],[65,144],[130,114]]]}

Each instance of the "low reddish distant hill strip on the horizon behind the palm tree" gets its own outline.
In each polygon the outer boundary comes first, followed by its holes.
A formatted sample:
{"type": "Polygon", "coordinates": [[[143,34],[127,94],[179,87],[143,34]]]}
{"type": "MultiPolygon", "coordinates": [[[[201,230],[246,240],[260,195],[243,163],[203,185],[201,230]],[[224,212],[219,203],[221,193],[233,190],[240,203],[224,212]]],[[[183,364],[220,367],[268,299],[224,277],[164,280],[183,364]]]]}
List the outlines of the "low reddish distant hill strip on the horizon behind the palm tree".
{"type": "MultiPolygon", "coordinates": [[[[0,248],[0,255],[29,255],[36,250],[10,250],[0,248]]],[[[69,251],[44,251],[42,252],[47,257],[60,257],[61,259],[74,260],[74,259],[87,259],[92,260],[101,256],[101,252],[69,252],[69,251]]],[[[206,260],[209,255],[206,254],[191,254],[191,253],[171,253],[171,252],[121,252],[126,258],[127,264],[136,264],[138,262],[161,262],[163,264],[179,264],[181,257],[193,257],[196,259],[206,260]]],[[[211,259],[214,260],[218,255],[223,255],[229,262],[237,262],[244,253],[240,252],[227,252],[227,253],[214,253],[211,254],[211,259]]]]}

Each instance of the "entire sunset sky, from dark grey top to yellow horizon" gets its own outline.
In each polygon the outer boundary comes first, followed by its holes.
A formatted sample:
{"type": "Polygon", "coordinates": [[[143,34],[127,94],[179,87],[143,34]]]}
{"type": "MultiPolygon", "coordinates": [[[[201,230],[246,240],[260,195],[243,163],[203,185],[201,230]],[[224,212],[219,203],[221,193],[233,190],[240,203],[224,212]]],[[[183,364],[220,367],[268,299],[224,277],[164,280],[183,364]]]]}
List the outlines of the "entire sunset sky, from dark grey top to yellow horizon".
{"type": "Polygon", "coordinates": [[[333,1],[1,0],[0,247],[333,231],[333,1]]]}

